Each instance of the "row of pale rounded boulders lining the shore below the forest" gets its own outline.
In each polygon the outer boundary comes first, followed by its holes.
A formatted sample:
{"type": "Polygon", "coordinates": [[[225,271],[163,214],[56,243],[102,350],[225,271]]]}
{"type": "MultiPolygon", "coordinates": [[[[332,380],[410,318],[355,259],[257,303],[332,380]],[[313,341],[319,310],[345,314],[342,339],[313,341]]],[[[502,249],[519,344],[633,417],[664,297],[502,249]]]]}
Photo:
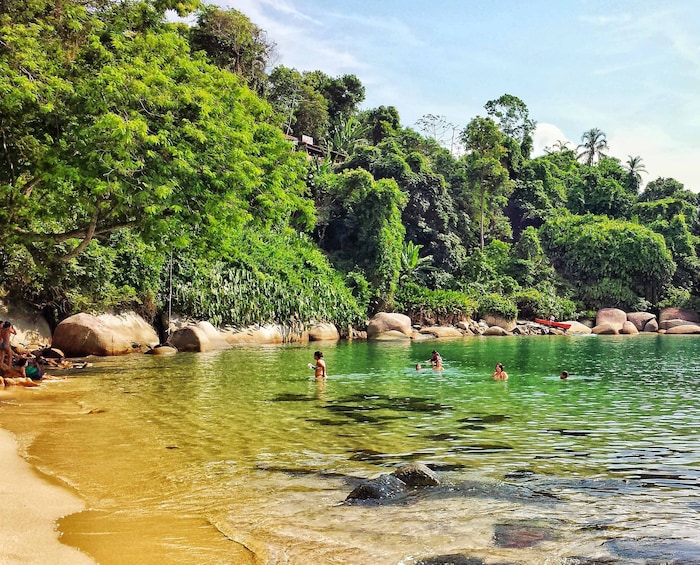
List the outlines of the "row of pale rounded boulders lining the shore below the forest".
{"type": "MultiPolygon", "coordinates": [[[[0,304],[2,306],[2,304],[0,304]]],[[[3,307],[4,308],[4,307],[3,307]]],[[[7,309],[5,308],[7,314],[7,309]]],[[[166,343],[161,343],[155,329],[135,313],[76,314],[63,320],[51,335],[48,325],[40,317],[26,312],[12,312],[17,328],[13,346],[29,351],[53,347],[67,357],[85,355],[123,355],[152,353],[168,355],[178,351],[211,351],[246,344],[306,343],[309,341],[337,341],[341,338],[388,340],[428,340],[461,338],[466,336],[509,336],[548,334],[628,334],[640,332],[667,334],[700,334],[700,316],[681,308],[664,308],[656,315],[650,312],[626,313],[617,308],[603,308],[595,322],[566,321],[564,330],[536,322],[485,316],[474,321],[464,319],[452,325],[414,325],[405,314],[379,312],[367,323],[366,331],[345,328],[342,333],[329,323],[306,327],[279,324],[247,328],[215,328],[205,321],[175,321],[169,324],[166,343]]]]}

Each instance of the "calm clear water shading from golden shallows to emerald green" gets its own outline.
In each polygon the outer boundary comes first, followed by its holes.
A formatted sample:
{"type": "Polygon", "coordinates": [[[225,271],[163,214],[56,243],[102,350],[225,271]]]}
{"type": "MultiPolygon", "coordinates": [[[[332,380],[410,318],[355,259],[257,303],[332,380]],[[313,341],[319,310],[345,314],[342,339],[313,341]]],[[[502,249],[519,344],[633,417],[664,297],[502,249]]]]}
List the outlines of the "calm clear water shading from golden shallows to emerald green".
{"type": "Polygon", "coordinates": [[[85,499],[62,539],[105,565],[700,563],[699,336],[95,359],[2,392],[0,424],[85,499]],[[344,503],[409,461],[442,485],[344,503]]]}

